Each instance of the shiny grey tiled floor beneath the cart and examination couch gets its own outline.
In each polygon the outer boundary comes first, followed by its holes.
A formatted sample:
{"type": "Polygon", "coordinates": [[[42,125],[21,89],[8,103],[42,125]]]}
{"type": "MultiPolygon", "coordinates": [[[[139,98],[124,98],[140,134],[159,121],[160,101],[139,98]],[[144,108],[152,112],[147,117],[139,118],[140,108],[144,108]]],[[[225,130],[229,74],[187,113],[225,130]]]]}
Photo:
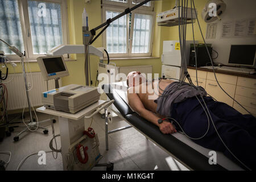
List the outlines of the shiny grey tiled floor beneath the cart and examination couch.
{"type": "MultiPolygon", "coordinates": [[[[40,121],[48,118],[48,115],[45,114],[38,113],[38,116],[40,121]]],[[[49,129],[47,135],[44,135],[43,131],[39,129],[33,133],[28,132],[27,134],[23,134],[18,142],[14,142],[13,137],[15,134],[23,129],[23,127],[19,127],[15,128],[11,137],[3,139],[3,142],[0,143],[0,152],[12,152],[11,160],[6,170],[16,170],[22,159],[34,152],[50,150],[49,141],[52,138],[51,125],[49,122],[45,122],[42,125],[49,129]]],[[[88,125],[88,123],[85,123],[85,127],[88,125]]],[[[55,134],[59,134],[58,121],[54,126],[55,134]]],[[[129,124],[115,117],[113,122],[109,124],[109,130],[123,126],[129,126],[129,124]]],[[[134,128],[110,134],[109,151],[106,151],[105,124],[100,114],[94,117],[92,127],[98,134],[100,140],[100,152],[103,155],[100,163],[112,162],[116,171],[188,170],[134,128]]],[[[60,138],[57,138],[57,146],[60,148],[60,138]]],[[[56,153],[54,155],[56,156],[56,153]]],[[[47,153],[46,156],[46,165],[39,165],[39,156],[32,155],[23,163],[20,170],[63,170],[62,156],[60,153],[57,154],[57,159],[53,159],[52,153],[47,153]]],[[[8,158],[8,155],[0,154],[1,160],[7,161],[8,158]]],[[[94,167],[93,170],[105,170],[105,167],[94,167]]]]}

